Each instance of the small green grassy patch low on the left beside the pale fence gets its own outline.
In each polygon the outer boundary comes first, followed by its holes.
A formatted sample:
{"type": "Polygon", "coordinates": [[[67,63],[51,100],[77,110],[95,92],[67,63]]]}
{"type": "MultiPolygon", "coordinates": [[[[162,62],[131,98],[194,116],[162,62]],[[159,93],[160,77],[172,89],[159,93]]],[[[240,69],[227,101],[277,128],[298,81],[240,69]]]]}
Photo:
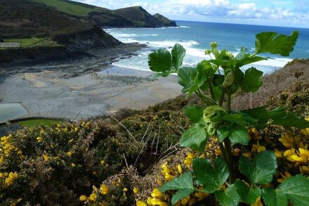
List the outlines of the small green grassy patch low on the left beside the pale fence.
{"type": "Polygon", "coordinates": [[[22,48],[34,46],[60,46],[56,41],[47,38],[4,39],[5,42],[20,42],[22,48]]]}

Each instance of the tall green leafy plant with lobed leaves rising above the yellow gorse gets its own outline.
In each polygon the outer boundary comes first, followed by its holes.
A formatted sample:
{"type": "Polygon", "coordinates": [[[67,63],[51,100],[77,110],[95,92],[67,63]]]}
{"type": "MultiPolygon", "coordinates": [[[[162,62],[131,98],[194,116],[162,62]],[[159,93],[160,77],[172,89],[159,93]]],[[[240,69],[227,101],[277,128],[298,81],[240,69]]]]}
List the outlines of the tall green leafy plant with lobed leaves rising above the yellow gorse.
{"type": "Polygon", "coordinates": [[[258,56],[272,53],[289,56],[294,50],[298,32],[290,36],[275,32],[256,34],[256,50],[248,53],[246,48],[233,56],[230,51],[218,50],[218,44],[212,42],[211,49],[205,51],[210,56],[196,67],[182,67],[185,49],[176,44],[171,53],[159,49],[149,56],[150,69],[157,72],[155,77],[166,77],[171,73],[178,75],[182,92],[190,98],[196,94],[204,105],[190,105],[184,108],[192,122],[190,129],[180,139],[180,146],[192,150],[204,151],[210,137],[217,137],[223,158],[214,160],[213,165],[205,158],[193,160],[192,172],[185,172],[176,179],[164,184],[160,190],[177,191],[171,200],[178,200],[193,192],[214,193],[221,205],[238,205],[239,202],[254,204],[263,197],[267,205],[305,205],[309,202],[309,179],[302,175],[283,181],[277,188],[271,187],[272,176],[277,173],[275,153],[265,150],[257,153],[252,160],[242,156],[239,168],[235,168],[232,146],[246,146],[249,143],[247,130],[279,125],[286,128],[305,129],[309,122],[300,119],[283,108],[265,110],[231,110],[232,95],[237,91],[256,92],[262,86],[263,72],[250,67],[241,70],[244,65],[256,63],[268,58],[258,56]]]}

